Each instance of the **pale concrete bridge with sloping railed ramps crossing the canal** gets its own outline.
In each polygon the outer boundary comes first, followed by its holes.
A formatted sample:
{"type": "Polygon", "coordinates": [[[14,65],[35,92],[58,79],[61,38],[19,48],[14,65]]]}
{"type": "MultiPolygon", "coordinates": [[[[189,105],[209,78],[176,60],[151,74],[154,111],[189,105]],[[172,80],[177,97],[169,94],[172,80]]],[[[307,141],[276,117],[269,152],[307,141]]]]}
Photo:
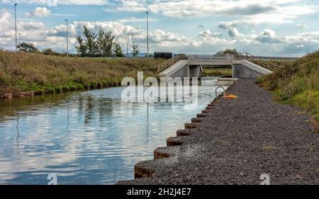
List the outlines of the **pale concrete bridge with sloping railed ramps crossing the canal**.
{"type": "MultiPolygon", "coordinates": [[[[276,57],[279,58],[293,60],[291,57],[276,57]]],[[[233,69],[233,78],[255,79],[279,68],[271,59],[272,57],[254,57],[249,53],[241,53],[239,56],[179,54],[159,66],[159,75],[166,78],[201,77],[203,67],[229,66],[233,69]]]]}

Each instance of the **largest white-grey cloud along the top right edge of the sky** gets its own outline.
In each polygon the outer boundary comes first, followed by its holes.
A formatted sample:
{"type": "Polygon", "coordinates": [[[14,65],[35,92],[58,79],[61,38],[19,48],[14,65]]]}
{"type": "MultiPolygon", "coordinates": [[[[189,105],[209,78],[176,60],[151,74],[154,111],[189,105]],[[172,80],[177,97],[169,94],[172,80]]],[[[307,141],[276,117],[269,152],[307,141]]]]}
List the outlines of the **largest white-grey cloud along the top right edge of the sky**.
{"type": "MultiPolygon", "coordinates": [[[[156,1],[150,4],[149,10],[172,18],[233,16],[235,21],[225,21],[220,28],[230,29],[231,26],[246,24],[259,25],[261,23],[293,23],[296,18],[311,13],[318,13],[319,5],[301,5],[301,0],[180,0],[156,1]],[[228,23],[228,24],[227,24],[228,23]],[[228,25],[228,28],[225,27],[228,25]]],[[[231,30],[230,30],[231,31],[231,30]]]]}

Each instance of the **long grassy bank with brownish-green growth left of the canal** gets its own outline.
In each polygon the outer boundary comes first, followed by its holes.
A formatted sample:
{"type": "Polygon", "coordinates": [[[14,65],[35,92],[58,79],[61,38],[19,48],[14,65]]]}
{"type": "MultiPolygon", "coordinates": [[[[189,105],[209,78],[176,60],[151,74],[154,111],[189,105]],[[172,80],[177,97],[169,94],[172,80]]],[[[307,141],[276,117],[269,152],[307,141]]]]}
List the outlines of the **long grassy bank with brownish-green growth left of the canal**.
{"type": "Polygon", "coordinates": [[[0,50],[0,93],[53,93],[118,86],[125,76],[158,76],[162,59],[90,59],[0,50]]]}

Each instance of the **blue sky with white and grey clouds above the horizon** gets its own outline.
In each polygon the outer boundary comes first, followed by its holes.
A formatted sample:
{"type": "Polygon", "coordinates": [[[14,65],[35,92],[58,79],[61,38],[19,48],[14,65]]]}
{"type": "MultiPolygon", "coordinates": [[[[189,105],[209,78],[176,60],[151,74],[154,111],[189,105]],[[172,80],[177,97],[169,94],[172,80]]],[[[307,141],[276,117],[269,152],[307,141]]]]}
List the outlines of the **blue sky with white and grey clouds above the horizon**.
{"type": "MultiPolygon", "coordinates": [[[[111,30],[126,50],[134,35],[150,52],[215,53],[226,48],[264,56],[302,56],[319,50],[319,0],[0,0],[0,47],[15,45],[14,6],[21,42],[40,50],[69,50],[83,25],[111,30]]],[[[130,45],[129,45],[130,46],[130,45]]],[[[129,47],[131,48],[131,47],[129,47]]]]}

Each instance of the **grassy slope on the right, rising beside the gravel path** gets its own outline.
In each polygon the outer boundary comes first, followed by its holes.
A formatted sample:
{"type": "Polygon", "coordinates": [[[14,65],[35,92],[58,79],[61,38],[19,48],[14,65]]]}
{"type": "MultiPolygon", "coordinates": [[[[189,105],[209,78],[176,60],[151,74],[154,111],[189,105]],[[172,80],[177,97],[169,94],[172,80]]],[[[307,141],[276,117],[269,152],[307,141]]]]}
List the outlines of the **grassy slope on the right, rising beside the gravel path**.
{"type": "Polygon", "coordinates": [[[319,120],[319,51],[285,62],[283,66],[257,80],[272,91],[276,100],[309,110],[319,120]]]}

